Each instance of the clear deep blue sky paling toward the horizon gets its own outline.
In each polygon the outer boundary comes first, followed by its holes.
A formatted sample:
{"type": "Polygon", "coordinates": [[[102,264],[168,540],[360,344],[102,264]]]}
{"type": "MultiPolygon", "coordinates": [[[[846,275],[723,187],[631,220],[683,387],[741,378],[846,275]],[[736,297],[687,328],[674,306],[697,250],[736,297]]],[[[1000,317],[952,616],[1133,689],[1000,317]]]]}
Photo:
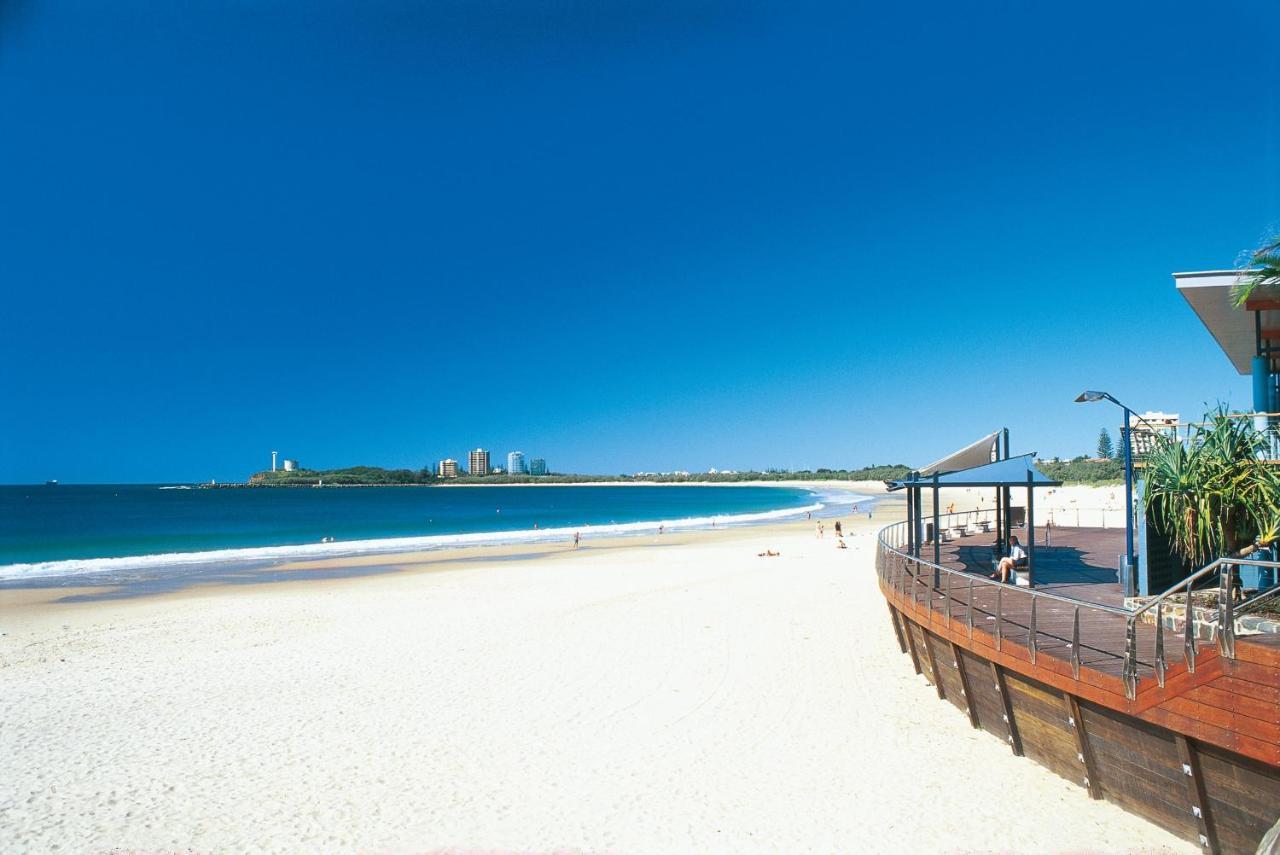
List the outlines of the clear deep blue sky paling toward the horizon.
{"type": "Polygon", "coordinates": [[[0,481],[923,463],[1248,384],[1280,4],[0,5],[0,481]],[[961,8],[965,6],[965,8],[961,8]]]}

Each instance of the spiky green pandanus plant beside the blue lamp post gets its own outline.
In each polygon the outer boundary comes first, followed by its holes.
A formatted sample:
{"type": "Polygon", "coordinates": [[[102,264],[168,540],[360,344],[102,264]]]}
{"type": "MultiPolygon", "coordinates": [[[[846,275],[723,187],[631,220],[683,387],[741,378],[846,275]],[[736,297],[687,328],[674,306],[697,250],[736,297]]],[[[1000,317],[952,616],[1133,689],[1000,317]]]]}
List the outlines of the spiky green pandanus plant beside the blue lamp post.
{"type": "Polygon", "coordinates": [[[1146,457],[1147,513],[1184,561],[1239,557],[1280,538],[1280,477],[1263,458],[1266,436],[1225,410],[1185,442],[1158,435],[1146,457]]]}

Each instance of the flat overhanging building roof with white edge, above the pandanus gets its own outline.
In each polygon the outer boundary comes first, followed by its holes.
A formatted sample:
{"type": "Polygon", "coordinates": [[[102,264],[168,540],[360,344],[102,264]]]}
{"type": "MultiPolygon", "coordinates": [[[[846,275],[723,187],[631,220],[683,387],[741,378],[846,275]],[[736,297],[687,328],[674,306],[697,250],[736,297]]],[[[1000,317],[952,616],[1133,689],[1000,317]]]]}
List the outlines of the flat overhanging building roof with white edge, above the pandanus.
{"type": "Polygon", "coordinates": [[[1253,370],[1252,360],[1257,353],[1257,329],[1254,311],[1261,312],[1263,337],[1280,330],[1280,301],[1271,288],[1260,289],[1249,306],[1239,308],[1231,301],[1231,285],[1242,276],[1239,270],[1204,270],[1201,273],[1175,273],[1174,282],[1178,293],[1183,296],[1204,329],[1217,340],[1219,347],[1231,360],[1240,374],[1253,370]]]}

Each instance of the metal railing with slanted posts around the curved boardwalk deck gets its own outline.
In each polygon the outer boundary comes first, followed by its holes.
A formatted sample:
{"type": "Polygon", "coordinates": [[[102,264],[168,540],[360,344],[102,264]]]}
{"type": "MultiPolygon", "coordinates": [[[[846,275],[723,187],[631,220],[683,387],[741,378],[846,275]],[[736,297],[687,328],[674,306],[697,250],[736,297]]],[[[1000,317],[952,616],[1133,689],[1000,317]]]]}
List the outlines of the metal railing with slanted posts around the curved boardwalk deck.
{"type": "MultiPolygon", "coordinates": [[[[960,512],[941,515],[945,520],[940,525],[940,531],[934,536],[956,527],[956,520],[978,521],[975,515],[989,512],[960,512]]],[[[897,522],[879,532],[876,552],[876,571],[881,581],[902,596],[910,596],[914,604],[924,604],[932,611],[945,612],[945,623],[951,626],[956,619],[956,608],[965,623],[968,636],[973,637],[974,619],[978,616],[983,621],[993,621],[992,635],[996,639],[996,649],[1001,650],[1007,641],[1010,628],[1016,635],[1025,630],[1025,648],[1032,660],[1036,663],[1039,650],[1044,643],[1066,645],[1070,649],[1069,659],[1071,673],[1076,680],[1080,677],[1082,655],[1085,653],[1091,662],[1112,660],[1120,664],[1121,680],[1125,687],[1125,696],[1130,700],[1137,698],[1138,681],[1143,671],[1156,677],[1160,686],[1165,685],[1167,671],[1167,658],[1165,653],[1165,627],[1164,617],[1170,609],[1170,598],[1185,594],[1187,607],[1184,612],[1183,627],[1183,658],[1190,672],[1196,671],[1196,658],[1199,654],[1194,605],[1190,591],[1203,590],[1207,580],[1217,573],[1217,613],[1212,617],[1211,639],[1216,640],[1220,655],[1235,657],[1236,618],[1245,611],[1254,608],[1258,603],[1270,600],[1280,594],[1280,584],[1258,591],[1240,604],[1233,602],[1233,580],[1239,567],[1271,567],[1280,570],[1280,562],[1256,561],[1248,558],[1220,558],[1211,564],[1198,570],[1183,581],[1178,582],[1158,596],[1152,598],[1140,608],[1129,609],[1102,603],[1091,603],[1071,596],[1062,596],[1034,587],[1020,587],[1009,585],[983,575],[975,575],[964,570],[956,570],[937,564],[924,558],[918,558],[909,552],[908,522],[897,522]],[[974,593],[983,591],[982,602],[975,603],[974,593]],[[1016,609],[1015,614],[1006,611],[1006,598],[1021,600],[1024,609],[1016,609]],[[1062,608],[1070,609],[1070,634],[1055,631],[1057,627],[1046,628],[1039,625],[1042,608],[1050,609],[1053,616],[1060,616],[1062,608]],[[1089,628],[1097,635],[1106,628],[1124,631],[1124,649],[1114,650],[1105,646],[1097,639],[1082,637],[1080,614],[1089,617],[1089,628]],[[1149,657],[1146,650],[1139,649],[1139,623],[1148,613],[1155,613],[1155,632],[1151,639],[1149,657]],[[1019,618],[1025,614],[1025,623],[1019,618]],[[1096,657],[1097,659],[1093,659],[1096,657]]],[[[1108,634],[1110,635],[1110,634],[1108,634]]]]}

